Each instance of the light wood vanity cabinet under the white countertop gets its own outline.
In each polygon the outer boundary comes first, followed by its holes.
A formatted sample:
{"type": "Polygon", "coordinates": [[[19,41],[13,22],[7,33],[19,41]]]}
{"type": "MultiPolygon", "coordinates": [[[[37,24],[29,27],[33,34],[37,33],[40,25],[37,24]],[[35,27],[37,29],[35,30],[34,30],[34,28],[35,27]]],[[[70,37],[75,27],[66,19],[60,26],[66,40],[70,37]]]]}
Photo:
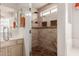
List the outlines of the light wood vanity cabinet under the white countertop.
{"type": "Polygon", "coordinates": [[[0,56],[22,56],[23,55],[23,39],[11,40],[0,48],[0,56]]]}

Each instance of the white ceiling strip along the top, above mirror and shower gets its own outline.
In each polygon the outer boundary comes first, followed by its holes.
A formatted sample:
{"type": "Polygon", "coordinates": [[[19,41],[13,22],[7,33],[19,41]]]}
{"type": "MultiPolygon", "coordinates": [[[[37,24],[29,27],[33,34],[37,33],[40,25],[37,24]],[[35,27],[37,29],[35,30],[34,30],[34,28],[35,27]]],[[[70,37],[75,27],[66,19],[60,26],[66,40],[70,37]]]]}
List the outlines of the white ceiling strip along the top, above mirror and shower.
{"type": "MultiPolygon", "coordinates": [[[[38,9],[46,4],[47,3],[32,3],[32,7],[38,9]]],[[[14,8],[14,9],[28,8],[29,7],[29,3],[2,3],[1,5],[4,5],[6,7],[10,7],[10,8],[14,8]]]]}

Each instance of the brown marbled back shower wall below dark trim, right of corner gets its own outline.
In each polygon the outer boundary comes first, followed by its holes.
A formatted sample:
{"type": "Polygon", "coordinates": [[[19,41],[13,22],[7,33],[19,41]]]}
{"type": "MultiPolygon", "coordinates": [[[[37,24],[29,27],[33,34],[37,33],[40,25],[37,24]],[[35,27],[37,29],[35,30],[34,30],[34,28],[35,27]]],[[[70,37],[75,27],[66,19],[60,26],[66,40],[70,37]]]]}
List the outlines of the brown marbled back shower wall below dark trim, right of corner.
{"type": "Polygon", "coordinates": [[[50,51],[57,52],[57,29],[41,28],[39,30],[39,45],[50,51]]]}

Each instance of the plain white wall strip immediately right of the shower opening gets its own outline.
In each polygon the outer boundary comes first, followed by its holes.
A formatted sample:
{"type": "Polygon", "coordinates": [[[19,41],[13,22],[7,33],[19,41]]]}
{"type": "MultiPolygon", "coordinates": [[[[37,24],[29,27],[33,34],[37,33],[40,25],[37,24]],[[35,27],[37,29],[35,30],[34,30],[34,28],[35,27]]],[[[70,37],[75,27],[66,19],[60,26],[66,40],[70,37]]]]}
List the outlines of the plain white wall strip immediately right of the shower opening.
{"type": "Polygon", "coordinates": [[[65,38],[65,10],[66,5],[61,3],[58,5],[58,22],[57,22],[57,54],[58,56],[65,56],[66,55],[66,38],[65,38]]]}

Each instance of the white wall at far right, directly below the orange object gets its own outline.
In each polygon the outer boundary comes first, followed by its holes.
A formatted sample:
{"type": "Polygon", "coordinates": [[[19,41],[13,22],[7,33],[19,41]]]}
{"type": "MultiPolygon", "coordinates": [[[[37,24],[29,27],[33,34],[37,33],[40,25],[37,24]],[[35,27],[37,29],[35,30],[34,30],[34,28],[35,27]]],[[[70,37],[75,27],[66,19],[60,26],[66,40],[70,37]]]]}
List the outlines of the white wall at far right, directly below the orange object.
{"type": "Polygon", "coordinates": [[[73,39],[79,39],[79,10],[72,5],[72,36],[73,39]]]}

